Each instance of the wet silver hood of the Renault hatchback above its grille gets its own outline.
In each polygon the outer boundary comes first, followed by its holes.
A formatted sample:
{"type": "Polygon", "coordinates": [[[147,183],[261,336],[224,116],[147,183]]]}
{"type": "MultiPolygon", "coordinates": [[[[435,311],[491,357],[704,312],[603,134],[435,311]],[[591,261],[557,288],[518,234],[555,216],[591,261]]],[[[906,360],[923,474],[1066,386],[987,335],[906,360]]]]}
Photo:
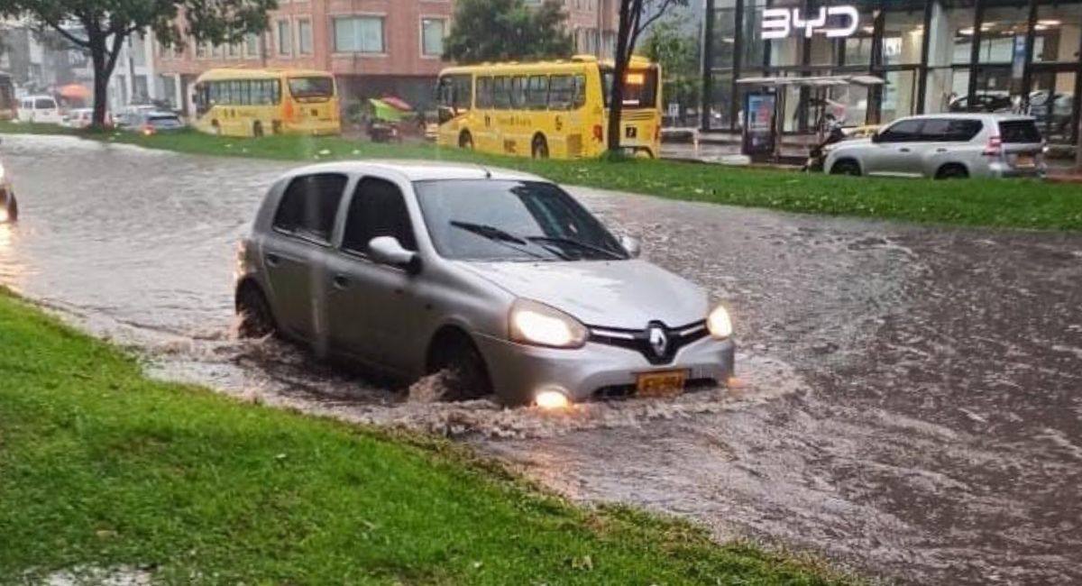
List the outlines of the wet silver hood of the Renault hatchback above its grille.
{"type": "Polygon", "coordinates": [[[518,296],[566,311],[588,325],[638,330],[705,319],[707,294],[645,261],[473,263],[467,270],[518,296]]]}

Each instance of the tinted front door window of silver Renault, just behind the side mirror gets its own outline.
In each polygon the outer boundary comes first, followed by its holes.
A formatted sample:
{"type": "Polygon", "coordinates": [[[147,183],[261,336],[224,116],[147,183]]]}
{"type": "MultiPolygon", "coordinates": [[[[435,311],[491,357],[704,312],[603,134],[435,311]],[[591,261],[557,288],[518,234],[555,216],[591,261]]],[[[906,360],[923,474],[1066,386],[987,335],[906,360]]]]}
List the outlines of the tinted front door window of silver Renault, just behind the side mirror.
{"type": "Polygon", "coordinates": [[[368,243],[381,236],[393,236],[404,249],[417,250],[409,211],[398,186],[366,177],[357,184],[349,202],[342,249],[367,255],[368,243]]]}

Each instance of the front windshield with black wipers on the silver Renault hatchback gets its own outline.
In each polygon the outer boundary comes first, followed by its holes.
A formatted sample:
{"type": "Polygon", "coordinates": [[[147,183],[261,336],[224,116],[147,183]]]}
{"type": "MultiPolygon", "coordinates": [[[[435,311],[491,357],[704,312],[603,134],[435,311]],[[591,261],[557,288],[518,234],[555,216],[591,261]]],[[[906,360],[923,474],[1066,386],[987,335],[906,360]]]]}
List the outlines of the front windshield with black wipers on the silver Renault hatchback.
{"type": "Polygon", "coordinates": [[[436,251],[460,261],[624,259],[616,238],[566,191],[543,182],[414,183],[436,251]]]}

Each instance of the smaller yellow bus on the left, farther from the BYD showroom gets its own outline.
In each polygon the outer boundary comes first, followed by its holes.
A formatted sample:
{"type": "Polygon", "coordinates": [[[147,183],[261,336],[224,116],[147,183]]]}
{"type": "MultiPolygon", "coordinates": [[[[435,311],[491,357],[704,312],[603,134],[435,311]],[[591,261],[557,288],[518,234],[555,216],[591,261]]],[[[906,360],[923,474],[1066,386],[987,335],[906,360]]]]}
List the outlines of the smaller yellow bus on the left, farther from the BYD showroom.
{"type": "Polygon", "coordinates": [[[225,136],[339,134],[334,76],[304,69],[210,69],[196,79],[196,129],[225,136]]]}

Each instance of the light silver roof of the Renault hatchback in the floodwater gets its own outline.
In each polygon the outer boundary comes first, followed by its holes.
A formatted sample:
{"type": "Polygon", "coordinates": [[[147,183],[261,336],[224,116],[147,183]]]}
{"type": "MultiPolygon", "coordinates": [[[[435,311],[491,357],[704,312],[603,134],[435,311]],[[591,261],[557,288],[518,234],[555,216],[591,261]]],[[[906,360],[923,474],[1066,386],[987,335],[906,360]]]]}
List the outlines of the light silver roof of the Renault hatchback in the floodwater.
{"type": "Polygon", "coordinates": [[[452,163],[444,161],[403,161],[394,159],[366,159],[356,161],[335,161],[294,169],[288,176],[306,175],[311,173],[378,173],[397,175],[409,181],[450,181],[450,179],[503,179],[503,181],[539,181],[549,179],[492,167],[470,163],[452,163]]]}

